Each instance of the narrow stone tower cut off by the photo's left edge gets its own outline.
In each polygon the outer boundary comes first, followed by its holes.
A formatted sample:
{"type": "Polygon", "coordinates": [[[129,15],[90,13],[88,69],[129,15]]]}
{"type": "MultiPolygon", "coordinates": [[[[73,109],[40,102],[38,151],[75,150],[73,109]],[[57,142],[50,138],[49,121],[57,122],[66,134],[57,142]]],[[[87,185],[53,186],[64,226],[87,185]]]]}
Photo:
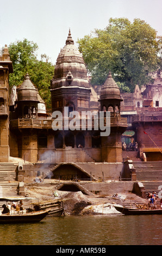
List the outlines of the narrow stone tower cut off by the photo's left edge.
{"type": "Polygon", "coordinates": [[[0,55],[0,162],[9,161],[9,74],[13,64],[7,45],[0,55]]]}

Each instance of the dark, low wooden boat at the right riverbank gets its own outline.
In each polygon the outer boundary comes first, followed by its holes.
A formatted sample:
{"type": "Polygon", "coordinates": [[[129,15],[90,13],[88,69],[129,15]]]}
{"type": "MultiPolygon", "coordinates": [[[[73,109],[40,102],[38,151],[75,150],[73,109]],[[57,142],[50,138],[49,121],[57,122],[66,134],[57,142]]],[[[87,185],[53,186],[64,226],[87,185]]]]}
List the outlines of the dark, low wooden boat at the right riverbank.
{"type": "Polygon", "coordinates": [[[142,209],[133,209],[125,208],[123,206],[114,205],[115,209],[121,214],[124,215],[153,215],[153,214],[162,214],[162,209],[153,209],[153,210],[142,210],[142,209]]]}

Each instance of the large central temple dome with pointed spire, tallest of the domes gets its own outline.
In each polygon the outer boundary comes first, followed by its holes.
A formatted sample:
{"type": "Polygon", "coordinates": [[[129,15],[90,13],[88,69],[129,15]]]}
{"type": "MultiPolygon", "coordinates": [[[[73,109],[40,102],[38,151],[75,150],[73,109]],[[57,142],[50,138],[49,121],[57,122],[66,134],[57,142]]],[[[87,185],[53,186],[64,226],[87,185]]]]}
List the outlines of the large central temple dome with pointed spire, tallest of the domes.
{"type": "Polygon", "coordinates": [[[77,47],[74,46],[70,30],[66,45],[61,49],[57,58],[51,88],[69,86],[90,87],[84,59],[77,47]]]}

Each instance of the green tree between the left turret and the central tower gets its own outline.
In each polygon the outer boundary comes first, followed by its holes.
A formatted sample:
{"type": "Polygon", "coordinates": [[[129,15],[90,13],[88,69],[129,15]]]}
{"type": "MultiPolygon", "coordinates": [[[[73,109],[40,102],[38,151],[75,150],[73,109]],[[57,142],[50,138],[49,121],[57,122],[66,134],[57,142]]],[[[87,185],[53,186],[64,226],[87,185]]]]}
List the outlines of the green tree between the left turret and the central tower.
{"type": "Polygon", "coordinates": [[[38,45],[33,41],[23,39],[9,45],[10,59],[13,62],[14,73],[10,74],[10,87],[20,86],[25,75],[29,74],[30,80],[43,100],[47,108],[51,108],[51,93],[49,91],[50,80],[54,74],[54,66],[48,62],[46,54],[42,54],[41,60],[36,58],[38,45]]]}

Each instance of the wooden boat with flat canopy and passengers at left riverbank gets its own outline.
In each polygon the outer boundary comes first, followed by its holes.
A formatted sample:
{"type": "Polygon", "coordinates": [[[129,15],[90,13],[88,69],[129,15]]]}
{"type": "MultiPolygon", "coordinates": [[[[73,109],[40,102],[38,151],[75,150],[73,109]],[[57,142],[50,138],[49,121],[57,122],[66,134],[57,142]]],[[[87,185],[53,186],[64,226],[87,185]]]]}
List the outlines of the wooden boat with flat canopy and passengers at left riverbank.
{"type": "MultiPolygon", "coordinates": [[[[32,198],[0,198],[1,202],[17,202],[18,200],[24,200],[32,198]]],[[[10,214],[1,214],[0,215],[0,223],[1,224],[7,224],[7,223],[30,223],[30,222],[40,222],[43,218],[45,218],[49,210],[40,210],[40,211],[34,211],[32,208],[29,208],[30,211],[20,211],[16,212],[14,210],[10,211],[10,214]]]]}

